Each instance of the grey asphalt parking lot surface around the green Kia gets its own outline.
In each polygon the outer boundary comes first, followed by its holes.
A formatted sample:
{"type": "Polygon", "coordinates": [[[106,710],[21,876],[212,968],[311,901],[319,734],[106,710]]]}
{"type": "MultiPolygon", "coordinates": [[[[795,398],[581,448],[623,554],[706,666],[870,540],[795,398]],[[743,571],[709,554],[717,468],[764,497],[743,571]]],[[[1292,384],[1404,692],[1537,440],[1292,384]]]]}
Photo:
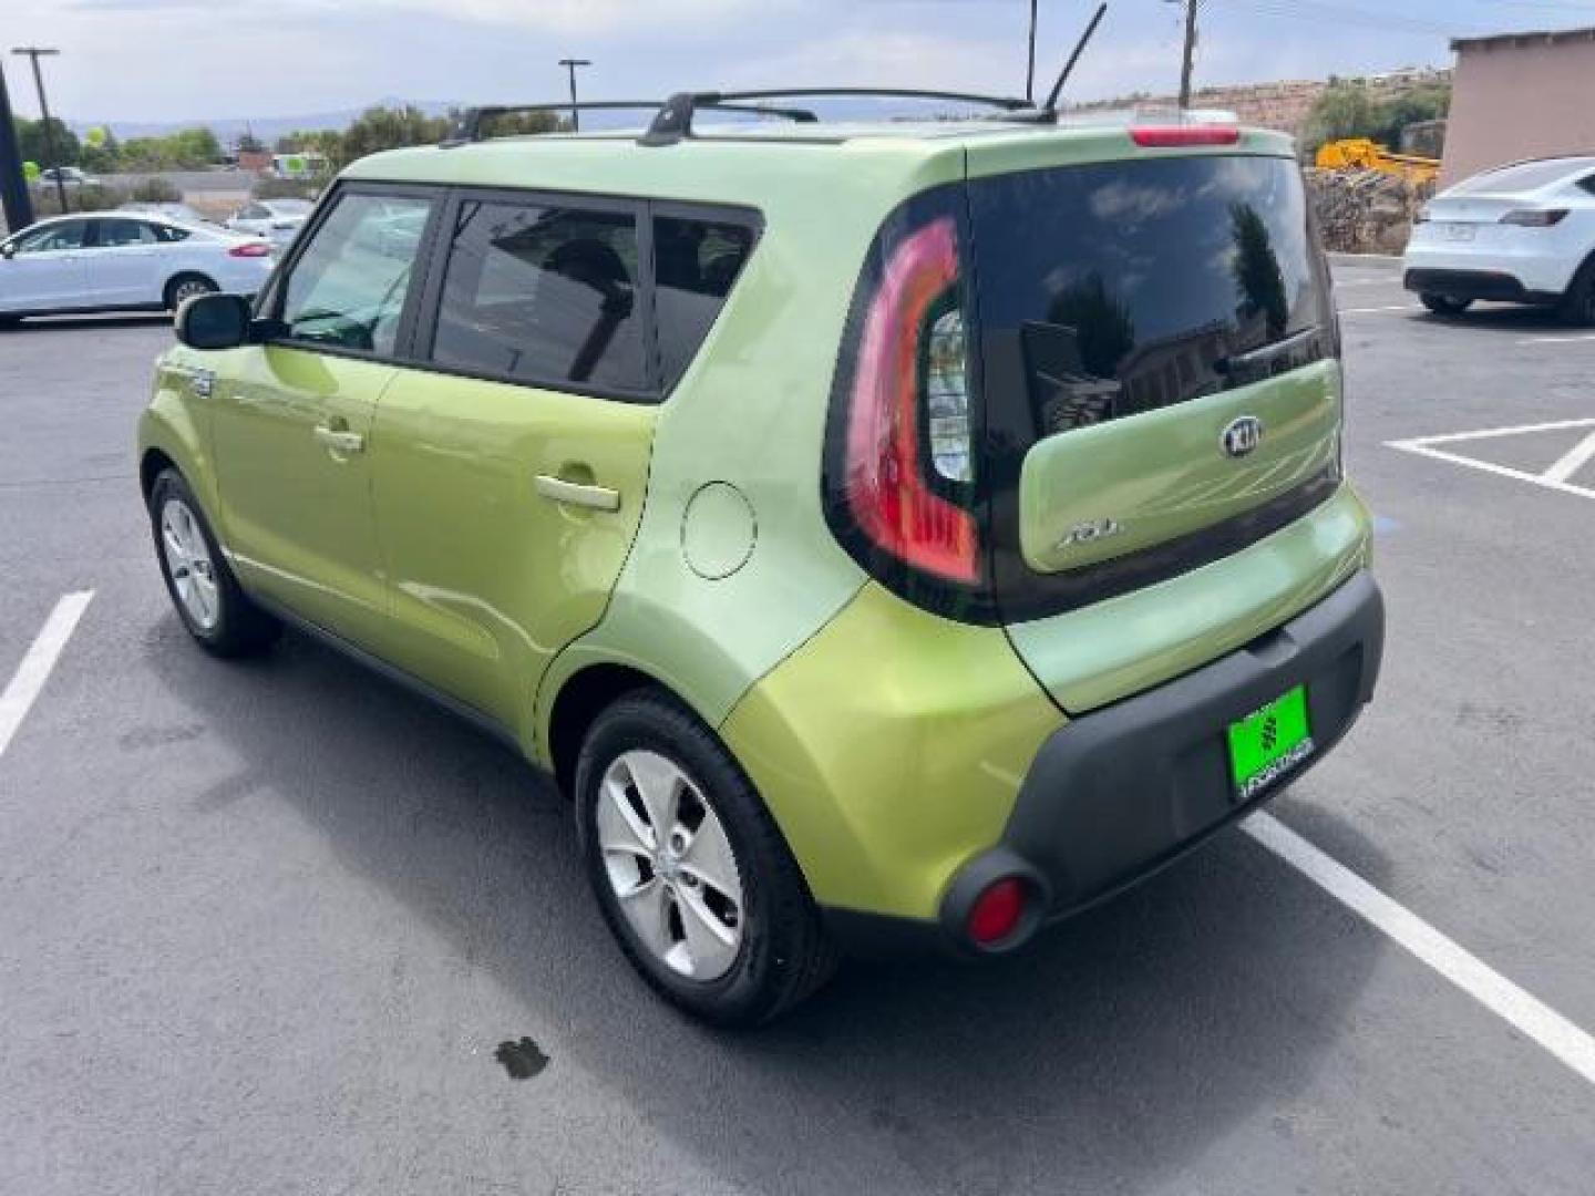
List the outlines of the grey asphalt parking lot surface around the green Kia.
{"type": "MultiPolygon", "coordinates": [[[[1388,655],[1274,815],[1587,1035],[1595,336],[1337,277],[1388,655]]],[[[501,746],[187,643],[131,459],[169,336],[0,332],[0,684],[94,595],[0,746],[0,1191],[1595,1191],[1595,1083],[1244,832],[995,966],[684,1022],[501,746]]]]}

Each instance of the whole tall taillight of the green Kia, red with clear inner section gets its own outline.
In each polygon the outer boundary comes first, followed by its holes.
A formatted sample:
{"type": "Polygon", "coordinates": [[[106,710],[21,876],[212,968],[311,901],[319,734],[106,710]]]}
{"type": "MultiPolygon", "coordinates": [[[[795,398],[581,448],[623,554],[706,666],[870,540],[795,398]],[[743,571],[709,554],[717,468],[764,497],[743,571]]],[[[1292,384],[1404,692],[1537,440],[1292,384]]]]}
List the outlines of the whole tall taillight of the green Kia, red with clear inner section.
{"type": "Polygon", "coordinates": [[[869,298],[845,394],[841,477],[828,485],[857,531],[931,577],[981,580],[975,515],[938,493],[973,480],[968,352],[957,222],[895,239],[869,298]]]}

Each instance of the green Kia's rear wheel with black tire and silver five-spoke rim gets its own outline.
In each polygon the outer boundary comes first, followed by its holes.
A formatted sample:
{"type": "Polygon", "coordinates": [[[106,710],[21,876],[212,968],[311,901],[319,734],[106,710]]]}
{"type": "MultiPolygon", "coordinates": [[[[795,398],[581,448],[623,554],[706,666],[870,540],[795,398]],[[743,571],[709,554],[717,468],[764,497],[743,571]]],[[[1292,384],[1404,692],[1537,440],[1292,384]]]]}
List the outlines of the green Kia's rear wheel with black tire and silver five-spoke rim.
{"type": "Polygon", "coordinates": [[[633,690],[593,722],[576,820],[605,920],[665,1000],[715,1025],[758,1025],[829,979],[836,950],[775,820],[719,740],[664,692],[633,690]],[[649,816],[667,808],[675,816],[649,816]],[[670,828],[664,847],[656,821],[670,828]]]}

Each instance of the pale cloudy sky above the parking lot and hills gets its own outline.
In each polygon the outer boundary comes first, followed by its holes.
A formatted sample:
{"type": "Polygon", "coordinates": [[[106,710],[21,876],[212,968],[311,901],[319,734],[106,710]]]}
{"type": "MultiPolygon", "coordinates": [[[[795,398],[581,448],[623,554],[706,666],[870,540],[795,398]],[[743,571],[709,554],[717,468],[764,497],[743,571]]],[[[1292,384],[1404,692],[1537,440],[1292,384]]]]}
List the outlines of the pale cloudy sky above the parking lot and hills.
{"type": "MultiPolygon", "coordinates": [[[[1038,77],[1093,0],[1040,0],[1038,77]]],[[[585,99],[734,86],[1024,88],[1027,0],[0,0],[8,45],[49,45],[69,121],[290,116],[378,99],[585,99]]],[[[1450,65],[1450,38],[1595,26],[1595,0],[1201,0],[1196,83],[1450,65]]],[[[1179,83],[1182,5],[1113,0],[1073,99],[1179,83]]],[[[5,56],[19,115],[26,59],[5,56]]]]}

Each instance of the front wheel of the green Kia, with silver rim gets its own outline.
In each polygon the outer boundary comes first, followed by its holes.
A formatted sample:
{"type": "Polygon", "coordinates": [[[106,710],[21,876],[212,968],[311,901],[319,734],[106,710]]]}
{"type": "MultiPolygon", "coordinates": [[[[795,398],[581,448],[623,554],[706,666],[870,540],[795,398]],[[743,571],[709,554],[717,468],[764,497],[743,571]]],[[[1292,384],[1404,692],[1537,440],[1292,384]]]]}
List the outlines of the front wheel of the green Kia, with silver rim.
{"type": "Polygon", "coordinates": [[[150,488],[150,531],[166,593],[203,649],[219,657],[252,655],[281,635],[282,625],[239,588],[199,502],[174,469],[150,488]]]}

